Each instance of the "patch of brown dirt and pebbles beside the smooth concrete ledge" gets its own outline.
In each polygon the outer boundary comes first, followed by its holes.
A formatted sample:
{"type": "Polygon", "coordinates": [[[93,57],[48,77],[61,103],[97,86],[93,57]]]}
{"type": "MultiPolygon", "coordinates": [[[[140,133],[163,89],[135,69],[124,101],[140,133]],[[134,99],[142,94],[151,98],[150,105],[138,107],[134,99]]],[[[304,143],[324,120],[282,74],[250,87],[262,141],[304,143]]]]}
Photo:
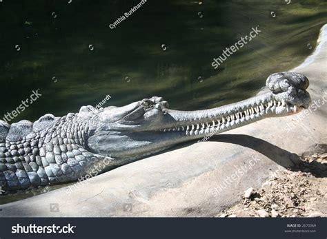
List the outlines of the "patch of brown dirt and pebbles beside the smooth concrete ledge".
{"type": "Polygon", "coordinates": [[[218,217],[326,217],[327,153],[301,156],[292,169],[272,173],[260,189],[244,191],[239,204],[218,217]]]}

